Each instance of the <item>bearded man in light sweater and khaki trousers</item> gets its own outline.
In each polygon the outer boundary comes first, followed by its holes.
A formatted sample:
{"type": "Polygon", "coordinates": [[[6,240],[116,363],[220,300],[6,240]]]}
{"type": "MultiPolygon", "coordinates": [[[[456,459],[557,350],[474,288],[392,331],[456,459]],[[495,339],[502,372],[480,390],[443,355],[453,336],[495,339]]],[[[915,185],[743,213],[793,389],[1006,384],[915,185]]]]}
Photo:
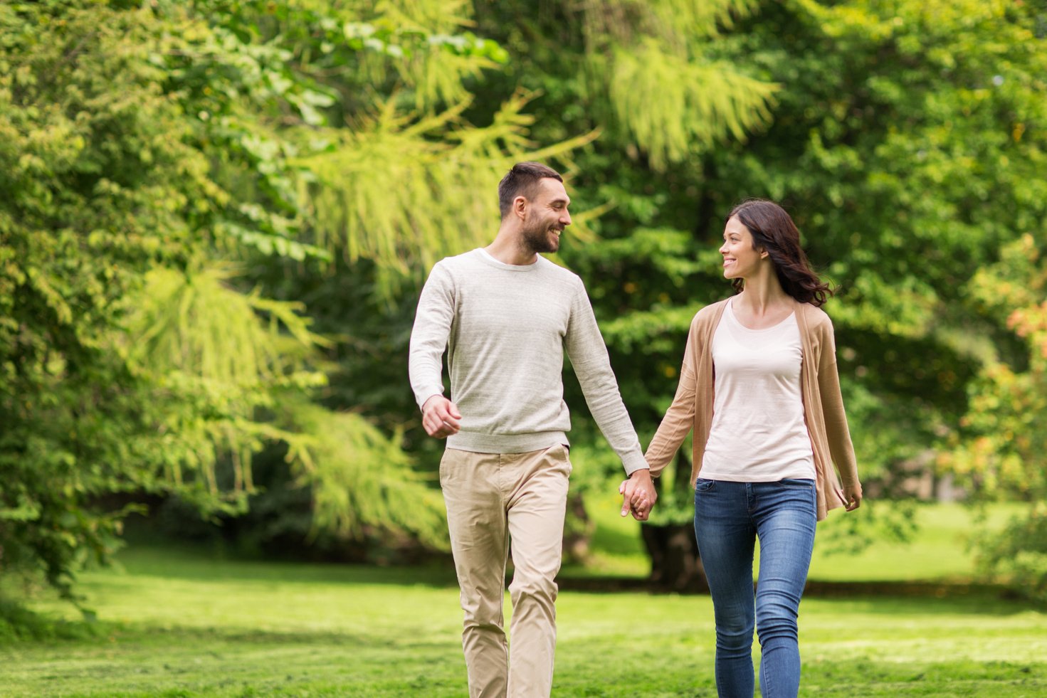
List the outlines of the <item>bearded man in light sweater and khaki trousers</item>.
{"type": "Polygon", "coordinates": [[[513,165],[498,185],[494,242],[437,263],[410,336],[410,384],[422,424],[430,436],[447,438],[440,483],[473,697],[552,690],[555,578],[571,473],[564,348],[629,475],[622,516],[631,509],[646,519],[656,498],[585,288],[539,255],[559,249],[570,203],[556,171],[513,165]],[[443,395],[445,346],[453,402],[443,395]],[[502,614],[510,537],[511,651],[502,614]]]}

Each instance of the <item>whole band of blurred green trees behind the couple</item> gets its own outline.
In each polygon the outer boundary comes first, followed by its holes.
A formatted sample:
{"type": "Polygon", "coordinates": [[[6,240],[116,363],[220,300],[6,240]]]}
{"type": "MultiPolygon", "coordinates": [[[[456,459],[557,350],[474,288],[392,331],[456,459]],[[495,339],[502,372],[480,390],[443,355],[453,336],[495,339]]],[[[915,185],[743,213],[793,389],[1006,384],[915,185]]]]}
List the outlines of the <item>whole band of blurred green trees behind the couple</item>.
{"type": "MultiPolygon", "coordinates": [[[[876,498],[1017,498],[985,563],[1044,593],[1045,38],[1042,0],[0,6],[0,569],[69,591],[147,505],[268,554],[445,549],[414,309],[540,159],[643,444],[723,216],[775,199],[840,290],[851,535],[876,498]]],[[[565,388],[583,557],[621,467],[565,388]]],[[[688,455],[644,530],[677,588],[688,455]]]]}

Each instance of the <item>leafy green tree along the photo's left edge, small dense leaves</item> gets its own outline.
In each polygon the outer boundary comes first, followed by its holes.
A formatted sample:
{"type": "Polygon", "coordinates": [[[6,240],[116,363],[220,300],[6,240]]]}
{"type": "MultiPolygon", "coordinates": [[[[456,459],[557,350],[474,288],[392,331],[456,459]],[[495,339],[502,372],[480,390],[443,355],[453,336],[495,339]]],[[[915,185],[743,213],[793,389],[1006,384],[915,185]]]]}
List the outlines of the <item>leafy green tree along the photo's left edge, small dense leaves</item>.
{"type": "Polygon", "coordinates": [[[149,13],[0,9],[0,549],[71,594],[130,508],[158,492],[149,386],[118,346],[147,270],[181,265],[220,205],[150,63],[149,13]]]}

